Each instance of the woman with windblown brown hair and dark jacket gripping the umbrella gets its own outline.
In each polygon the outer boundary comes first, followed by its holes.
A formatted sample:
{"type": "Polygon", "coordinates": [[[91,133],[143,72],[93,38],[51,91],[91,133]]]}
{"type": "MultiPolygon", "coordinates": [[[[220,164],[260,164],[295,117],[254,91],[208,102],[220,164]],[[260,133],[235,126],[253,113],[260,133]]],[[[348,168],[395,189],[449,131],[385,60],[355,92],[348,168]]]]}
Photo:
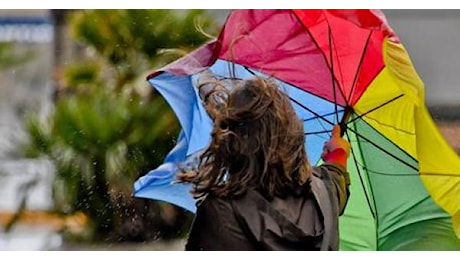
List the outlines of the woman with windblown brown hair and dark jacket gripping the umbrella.
{"type": "Polygon", "coordinates": [[[338,250],[350,149],[340,128],[312,167],[303,124],[273,81],[216,86],[203,96],[211,143],[179,177],[201,199],[186,250],[338,250]]]}

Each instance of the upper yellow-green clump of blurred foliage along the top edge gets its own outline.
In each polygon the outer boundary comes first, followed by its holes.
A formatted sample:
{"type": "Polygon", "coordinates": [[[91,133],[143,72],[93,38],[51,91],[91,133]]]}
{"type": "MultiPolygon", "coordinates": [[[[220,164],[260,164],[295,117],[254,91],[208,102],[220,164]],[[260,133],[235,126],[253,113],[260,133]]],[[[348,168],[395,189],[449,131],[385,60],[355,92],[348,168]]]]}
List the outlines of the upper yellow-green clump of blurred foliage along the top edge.
{"type": "Polygon", "coordinates": [[[216,31],[203,10],[92,10],[72,23],[75,38],[112,66],[115,89],[208,41],[199,28],[216,31]]]}

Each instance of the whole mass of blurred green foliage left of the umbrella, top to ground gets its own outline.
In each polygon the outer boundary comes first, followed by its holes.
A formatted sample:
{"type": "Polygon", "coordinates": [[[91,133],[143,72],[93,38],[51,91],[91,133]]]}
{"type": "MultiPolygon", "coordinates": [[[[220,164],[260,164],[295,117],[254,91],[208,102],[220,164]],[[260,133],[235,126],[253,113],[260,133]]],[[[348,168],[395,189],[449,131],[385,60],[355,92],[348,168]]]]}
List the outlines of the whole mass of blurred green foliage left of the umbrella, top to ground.
{"type": "Polygon", "coordinates": [[[188,213],[131,197],[134,181],[162,163],[179,131],[145,77],[209,40],[197,21],[210,33],[216,24],[202,10],[83,10],[69,21],[85,55],[65,68],[53,113],[28,118],[27,154],[56,165],[56,211],[84,212],[90,223],[79,235],[87,240],[182,235],[188,213]]]}

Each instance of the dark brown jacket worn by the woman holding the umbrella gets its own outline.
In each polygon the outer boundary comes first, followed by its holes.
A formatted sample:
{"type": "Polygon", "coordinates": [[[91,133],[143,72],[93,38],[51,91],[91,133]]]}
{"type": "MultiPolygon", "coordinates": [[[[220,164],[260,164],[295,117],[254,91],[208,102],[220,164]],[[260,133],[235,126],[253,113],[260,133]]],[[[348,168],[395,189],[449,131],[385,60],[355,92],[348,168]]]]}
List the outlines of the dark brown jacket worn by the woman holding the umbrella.
{"type": "Polygon", "coordinates": [[[312,193],[266,200],[250,190],[237,199],[208,195],[198,206],[186,250],[338,250],[338,217],[348,201],[348,173],[314,168],[312,193]]]}

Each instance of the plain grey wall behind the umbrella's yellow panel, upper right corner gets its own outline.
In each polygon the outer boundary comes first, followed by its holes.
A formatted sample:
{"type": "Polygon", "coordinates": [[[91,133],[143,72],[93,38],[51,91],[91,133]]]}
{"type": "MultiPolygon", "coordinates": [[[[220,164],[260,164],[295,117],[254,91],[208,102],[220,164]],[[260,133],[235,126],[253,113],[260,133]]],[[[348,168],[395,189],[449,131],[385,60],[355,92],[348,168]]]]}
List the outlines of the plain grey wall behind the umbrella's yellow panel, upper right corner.
{"type": "Polygon", "coordinates": [[[460,107],[460,10],[383,12],[425,83],[428,106],[460,107]]]}

